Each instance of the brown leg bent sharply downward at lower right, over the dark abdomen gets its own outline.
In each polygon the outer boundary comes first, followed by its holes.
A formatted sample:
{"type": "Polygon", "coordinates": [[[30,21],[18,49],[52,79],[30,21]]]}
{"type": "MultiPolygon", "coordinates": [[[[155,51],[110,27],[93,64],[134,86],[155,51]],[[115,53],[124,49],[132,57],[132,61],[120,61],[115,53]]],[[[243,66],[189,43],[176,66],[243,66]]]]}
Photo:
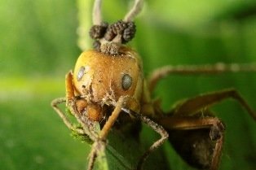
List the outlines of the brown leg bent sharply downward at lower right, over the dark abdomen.
{"type": "MultiPolygon", "coordinates": [[[[182,142],[188,142],[186,143],[187,147],[191,147],[191,151],[190,153],[201,153],[201,148],[204,148],[203,146],[205,146],[205,148],[207,148],[207,151],[211,152],[211,149],[213,149],[213,153],[211,154],[210,162],[205,160],[204,157],[204,161],[200,166],[206,166],[209,167],[210,170],[217,170],[218,169],[218,164],[220,162],[220,157],[222,154],[222,148],[223,148],[223,140],[224,140],[224,124],[218,120],[218,118],[216,117],[175,117],[175,116],[166,116],[160,120],[157,120],[157,122],[159,122],[160,124],[163,125],[163,127],[167,130],[169,130],[170,132],[173,130],[192,130],[192,129],[210,129],[210,140],[214,141],[215,144],[213,146],[213,148],[210,147],[210,150],[208,150],[208,147],[210,146],[210,142],[206,140],[207,136],[200,136],[198,140],[205,140],[205,142],[200,143],[201,146],[196,148],[196,143],[199,143],[197,141],[193,141],[186,137],[181,137],[181,141],[182,142]],[[187,140],[187,141],[186,141],[187,140]]],[[[177,137],[179,138],[179,137],[177,137]]],[[[196,137],[198,138],[198,137],[196,137]]],[[[176,140],[176,139],[174,139],[176,140]]],[[[170,139],[170,141],[172,142],[172,139],[170,139]]],[[[184,146],[184,144],[183,144],[184,146]]],[[[204,149],[205,149],[204,148],[204,149]]],[[[179,152],[179,151],[178,151],[179,152]]],[[[205,150],[204,150],[205,153],[205,150]]],[[[196,154],[198,155],[198,154],[196,154]]],[[[207,155],[207,154],[205,154],[207,155]]],[[[195,155],[190,155],[192,158],[190,159],[201,159],[201,157],[197,157],[195,158],[195,155]]],[[[208,157],[207,157],[208,158],[208,157]]],[[[198,166],[198,164],[197,164],[198,166]]],[[[205,168],[205,167],[204,167],[205,168]]]]}

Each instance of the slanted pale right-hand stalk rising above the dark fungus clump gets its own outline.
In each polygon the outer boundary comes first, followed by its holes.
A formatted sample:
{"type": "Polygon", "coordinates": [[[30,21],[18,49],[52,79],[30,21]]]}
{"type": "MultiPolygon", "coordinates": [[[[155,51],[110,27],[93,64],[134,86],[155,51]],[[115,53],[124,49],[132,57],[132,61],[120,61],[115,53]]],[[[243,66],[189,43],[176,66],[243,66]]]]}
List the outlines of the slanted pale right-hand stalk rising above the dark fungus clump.
{"type": "Polygon", "coordinates": [[[123,21],[131,22],[135,20],[135,16],[139,14],[143,7],[143,0],[135,0],[135,5],[130,9],[130,11],[126,14],[123,21]]]}

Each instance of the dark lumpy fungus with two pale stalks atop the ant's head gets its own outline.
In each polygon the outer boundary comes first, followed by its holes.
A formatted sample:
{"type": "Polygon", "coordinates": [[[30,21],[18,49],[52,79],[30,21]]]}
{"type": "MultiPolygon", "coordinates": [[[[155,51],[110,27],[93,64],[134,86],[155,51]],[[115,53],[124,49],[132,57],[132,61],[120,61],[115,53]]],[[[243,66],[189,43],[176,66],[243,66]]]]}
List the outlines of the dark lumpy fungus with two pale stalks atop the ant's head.
{"type": "Polygon", "coordinates": [[[93,26],[90,37],[95,40],[94,48],[104,54],[120,54],[120,47],[135,37],[135,23],[133,20],[143,7],[143,0],[135,0],[134,6],[127,12],[123,20],[108,24],[102,21],[101,0],[95,0],[93,8],[93,26]]]}

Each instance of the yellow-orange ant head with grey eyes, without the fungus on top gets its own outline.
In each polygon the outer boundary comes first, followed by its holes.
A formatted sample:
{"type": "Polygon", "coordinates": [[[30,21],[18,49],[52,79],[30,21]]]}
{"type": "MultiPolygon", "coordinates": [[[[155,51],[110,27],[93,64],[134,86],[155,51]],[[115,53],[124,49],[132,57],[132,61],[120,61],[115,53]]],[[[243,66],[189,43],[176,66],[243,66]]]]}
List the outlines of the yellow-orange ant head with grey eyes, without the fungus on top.
{"type": "Polygon", "coordinates": [[[129,48],[123,47],[119,55],[88,50],[77,59],[73,73],[74,89],[88,102],[112,104],[126,95],[139,101],[143,89],[141,69],[139,55],[129,48]]]}

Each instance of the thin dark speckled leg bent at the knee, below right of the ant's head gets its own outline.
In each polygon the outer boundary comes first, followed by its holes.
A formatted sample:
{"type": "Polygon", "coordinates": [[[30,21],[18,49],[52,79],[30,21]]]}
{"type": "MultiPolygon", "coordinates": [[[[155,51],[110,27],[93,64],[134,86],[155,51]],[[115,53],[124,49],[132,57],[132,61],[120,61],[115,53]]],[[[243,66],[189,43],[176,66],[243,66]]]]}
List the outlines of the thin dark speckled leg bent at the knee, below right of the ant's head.
{"type": "Polygon", "coordinates": [[[126,111],[126,113],[130,114],[131,116],[135,116],[136,119],[143,121],[144,124],[147,124],[155,132],[161,135],[161,138],[157,140],[157,142],[154,142],[152,146],[150,146],[148,150],[146,150],[144,154],[141,156],[141,158],[139,159],[137,170],[141,170],[143,168],[143,163],[148,158],[148,155],[150,155],[150,153],[152,153],[153,150],[156,150],[159,146],[161,146],[166,141],[166,139],[168,139],[169,134],[167,133],[166,129],[164,129],[160,124],[157,124],[156,122],[149,119],[148,117],[142,116],[141,114],[126,108],[122,108],[122,110],[126,111]]]}

